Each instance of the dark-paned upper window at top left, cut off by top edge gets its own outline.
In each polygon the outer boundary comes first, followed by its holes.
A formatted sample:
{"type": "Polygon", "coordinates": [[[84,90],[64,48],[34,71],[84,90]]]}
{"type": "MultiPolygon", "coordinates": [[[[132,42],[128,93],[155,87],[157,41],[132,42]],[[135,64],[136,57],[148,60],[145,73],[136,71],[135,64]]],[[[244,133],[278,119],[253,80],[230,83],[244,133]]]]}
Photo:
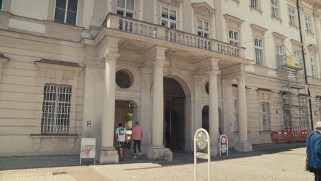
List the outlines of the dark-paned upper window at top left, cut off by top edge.
{"type": "Polygon", "coordinates": [[[54,21],[75,25],[77,8],[78,0],[56,0],[54,21]]]}

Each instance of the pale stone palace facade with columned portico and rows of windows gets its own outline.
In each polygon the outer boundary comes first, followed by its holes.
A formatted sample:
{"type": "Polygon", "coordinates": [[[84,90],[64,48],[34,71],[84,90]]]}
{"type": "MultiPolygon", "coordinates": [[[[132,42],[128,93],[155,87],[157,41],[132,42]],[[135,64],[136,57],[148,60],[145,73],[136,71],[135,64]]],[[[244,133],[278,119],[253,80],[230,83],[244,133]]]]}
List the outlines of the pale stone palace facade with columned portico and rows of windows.
{"type": "Polygon", "coordinates": [[[165,160],[192,151],[198,128],[212,154],[219,132],[250,152],[272,131],[320,120],[318,0],[0,5],[0,156],[79,154],[81,138],[95,137],[99,162],[118,162],[127,113],[143,154],[165,160]]]}

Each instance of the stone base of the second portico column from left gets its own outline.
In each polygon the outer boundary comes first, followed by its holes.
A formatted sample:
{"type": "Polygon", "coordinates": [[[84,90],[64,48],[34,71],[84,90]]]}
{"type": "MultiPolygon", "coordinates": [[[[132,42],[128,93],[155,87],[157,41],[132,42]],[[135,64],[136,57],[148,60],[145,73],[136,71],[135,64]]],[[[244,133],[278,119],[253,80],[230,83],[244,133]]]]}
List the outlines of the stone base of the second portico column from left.
{"type": "Polygon", "coordinates": [[[171,162],[173,160],[173,153],[169,148],[147,148],[147,158],[151,160],[166,160],[171,162]]]}

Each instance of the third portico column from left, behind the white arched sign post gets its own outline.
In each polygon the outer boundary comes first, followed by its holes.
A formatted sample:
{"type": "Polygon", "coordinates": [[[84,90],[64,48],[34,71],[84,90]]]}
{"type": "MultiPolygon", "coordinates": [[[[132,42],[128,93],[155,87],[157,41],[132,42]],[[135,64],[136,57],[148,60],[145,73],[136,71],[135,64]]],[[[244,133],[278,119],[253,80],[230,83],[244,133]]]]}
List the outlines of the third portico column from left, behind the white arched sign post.
{"type": "Polygon", "coordinates": [[[211,137],[211,155],[219,154],[219,115],[217,95],[217,73],[213,70],[209,73],[209,134],[211,137]]]}

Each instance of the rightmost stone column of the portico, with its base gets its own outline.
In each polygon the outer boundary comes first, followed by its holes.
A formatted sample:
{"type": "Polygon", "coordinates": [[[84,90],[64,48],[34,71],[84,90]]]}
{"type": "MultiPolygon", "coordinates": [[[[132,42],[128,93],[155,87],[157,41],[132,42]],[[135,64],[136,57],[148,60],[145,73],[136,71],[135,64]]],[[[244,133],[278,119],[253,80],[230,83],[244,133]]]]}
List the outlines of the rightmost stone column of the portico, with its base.
{"type": "Polygon", "coordinates": [[[240,152],[252,152],[252,145],[248,142],[248,112],[246,108],[246,76],[237,78],[238,108],[239,108],[239,142],[235,150],[240,152]]]}

